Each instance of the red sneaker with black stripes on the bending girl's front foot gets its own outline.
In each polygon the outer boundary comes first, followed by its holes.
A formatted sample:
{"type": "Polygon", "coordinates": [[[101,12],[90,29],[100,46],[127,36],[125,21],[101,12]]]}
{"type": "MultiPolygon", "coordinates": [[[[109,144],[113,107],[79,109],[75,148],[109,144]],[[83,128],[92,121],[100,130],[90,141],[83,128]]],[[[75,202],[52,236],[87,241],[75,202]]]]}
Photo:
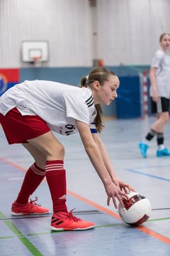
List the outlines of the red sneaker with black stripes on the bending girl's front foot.
{"type": "Polygon", "coordinates": [[[71,210],[69,213],[59,212],[52,215],[51,229],[55,231],[60,230],[89,230],[94,228],[94,223],[86,220],[81,220],[72,214],[71,210]]]}

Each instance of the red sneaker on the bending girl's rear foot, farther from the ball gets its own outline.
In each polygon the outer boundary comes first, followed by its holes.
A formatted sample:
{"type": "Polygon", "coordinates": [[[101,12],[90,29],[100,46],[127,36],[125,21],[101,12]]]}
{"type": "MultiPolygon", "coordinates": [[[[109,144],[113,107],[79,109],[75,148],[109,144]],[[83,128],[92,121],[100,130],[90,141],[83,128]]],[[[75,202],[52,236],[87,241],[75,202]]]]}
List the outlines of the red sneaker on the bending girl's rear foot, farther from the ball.
{"type": "Polygon", "coordinates": [[[35,197],[35,200],[31,200],[26,204],[16,203],[16,201],[12,204],[11,214],[12,215],[28,215],[28,214],[46,214],[49,213],[47,208],[43,208],[35,201],[38,201],[38,198],[35,197]]]}

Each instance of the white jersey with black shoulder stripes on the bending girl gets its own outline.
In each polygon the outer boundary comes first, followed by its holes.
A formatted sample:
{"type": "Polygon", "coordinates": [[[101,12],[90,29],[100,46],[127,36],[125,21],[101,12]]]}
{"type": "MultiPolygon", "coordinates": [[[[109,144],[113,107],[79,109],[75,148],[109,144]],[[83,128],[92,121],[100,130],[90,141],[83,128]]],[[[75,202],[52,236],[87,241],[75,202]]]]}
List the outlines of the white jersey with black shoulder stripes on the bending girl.
{"type": "Polygon", "coordinates": [[[77,132],[75,120],[91,124],[96,117],[90,88],[45,80],[25,81],[0,97],[0,112],[17,107],[22,115],[38,115],[52,131],[69,135],[77,132]]]}

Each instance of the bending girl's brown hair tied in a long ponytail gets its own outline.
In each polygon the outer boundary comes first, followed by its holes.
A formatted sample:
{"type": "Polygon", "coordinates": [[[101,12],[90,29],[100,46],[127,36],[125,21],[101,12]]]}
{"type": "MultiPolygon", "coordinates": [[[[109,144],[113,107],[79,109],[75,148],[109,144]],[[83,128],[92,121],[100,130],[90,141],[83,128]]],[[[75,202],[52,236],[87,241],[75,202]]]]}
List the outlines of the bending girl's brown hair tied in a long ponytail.
{"type": "MultiPolygon", "coordinates": [[[[104,84],[104,82],[108,81],[108,77],[110,75],[115,75],[115,73],[111,70],[108,70],[107,68],[104,67],[96,67],[94,69],[92,69],[89,73],[89,75],[84,76],[83,78],[81,78],[81,86],[80,87],[91,87],[92,83],[94,81],[98,81],[100,83],[100,85],[102,86],[104,84]]],[[[96,123],[96,129],[98,132],[101,133],[104,124],[102,121],[102,106],[101,104],[97,104],[95,105],[96,107],[96,111],[97,111],[97,115],[95,118],[95,123],[96,123]]]]}

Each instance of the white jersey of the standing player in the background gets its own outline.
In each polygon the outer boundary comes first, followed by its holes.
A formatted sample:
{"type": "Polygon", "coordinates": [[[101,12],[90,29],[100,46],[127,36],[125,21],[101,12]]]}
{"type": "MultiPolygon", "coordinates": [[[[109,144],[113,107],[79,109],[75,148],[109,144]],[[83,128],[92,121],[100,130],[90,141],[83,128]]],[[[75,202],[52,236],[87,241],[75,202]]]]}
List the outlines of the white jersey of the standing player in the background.
{"type": "MultiPolygon", "coordinates": [[[[170,56],[164,50],[157,50],[152,60],[152,68],[157,68],[156,81],[159,97],[170,98],[170,56]]],[[[150,87],[152,96],[152,87],[150,87]]]]}

